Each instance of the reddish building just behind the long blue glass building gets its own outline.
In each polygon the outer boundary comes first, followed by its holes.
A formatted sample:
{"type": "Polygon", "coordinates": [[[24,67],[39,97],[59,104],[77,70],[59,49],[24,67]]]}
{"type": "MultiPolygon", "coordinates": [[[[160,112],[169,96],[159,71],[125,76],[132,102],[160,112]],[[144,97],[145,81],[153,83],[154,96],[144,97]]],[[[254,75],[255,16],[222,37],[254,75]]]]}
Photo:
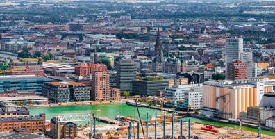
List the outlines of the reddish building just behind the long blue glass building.
{"type": "Polygon", "coordinates": [[[28,63],[15,63],[14,60],[10,60],[10,69],[17,69],[7,72],[6,75],[36,75],[44,76],[42,58],[39,58],[38,62],[28,62],[28,63]]]}

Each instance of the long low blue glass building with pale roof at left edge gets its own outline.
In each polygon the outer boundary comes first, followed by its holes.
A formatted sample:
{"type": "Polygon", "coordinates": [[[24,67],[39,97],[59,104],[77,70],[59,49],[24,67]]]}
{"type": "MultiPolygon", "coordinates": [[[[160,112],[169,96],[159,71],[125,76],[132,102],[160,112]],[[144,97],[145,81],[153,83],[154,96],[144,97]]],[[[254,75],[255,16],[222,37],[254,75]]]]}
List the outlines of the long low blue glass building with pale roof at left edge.
{"type": "Polygon", "coordinates": [[[17,92],[36,92],[41,94],[44,82],[53,81],[35,75],[0,76],[0,92],[17,90],[17,92]]]}

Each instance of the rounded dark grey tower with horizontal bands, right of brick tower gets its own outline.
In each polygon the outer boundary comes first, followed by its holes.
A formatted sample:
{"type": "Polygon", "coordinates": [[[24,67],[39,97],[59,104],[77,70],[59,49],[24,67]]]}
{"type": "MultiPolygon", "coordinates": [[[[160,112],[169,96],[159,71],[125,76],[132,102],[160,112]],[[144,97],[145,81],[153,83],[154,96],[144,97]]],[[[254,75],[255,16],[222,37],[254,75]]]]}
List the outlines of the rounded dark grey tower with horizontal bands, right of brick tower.
{"type": "Polygon", "coordinates": [[[133,79],[137,72],[137,67],[131,58],[122,58],[117,63],[117,88],[120,92],[132,92],[133,79]]]}

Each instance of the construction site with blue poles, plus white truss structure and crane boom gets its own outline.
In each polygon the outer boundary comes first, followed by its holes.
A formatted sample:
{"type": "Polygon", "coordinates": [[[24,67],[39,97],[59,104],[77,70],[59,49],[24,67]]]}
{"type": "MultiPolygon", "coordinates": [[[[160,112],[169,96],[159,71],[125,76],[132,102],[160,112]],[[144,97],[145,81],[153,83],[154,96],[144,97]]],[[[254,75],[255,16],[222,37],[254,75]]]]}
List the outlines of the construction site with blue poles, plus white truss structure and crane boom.
{"type": "MultiPolygon", "coordinates": [[[[136,108],[138,103],[136,102],[136,108]]],[[[194,112],[196,113],[196,112],[194,112]]],[[[76,136],[78,138],[98,138],[98,139],[119,139],[119,138],[275,138],[274,136],[261,133],[260,126],[257,132],[244,131],[226,126],[217,126],[213,124],[202,124],[192,122],[190,117],[179,113],[155,113],[148,115],[146,120],[133,118],[131,115],[125,117],[117,115],[114,119],[108,117],[95,117],[94,113],[88,113],[75,117],[75,121],[87,117],[89,126],[78,128],[76,136]],[[106,124],[99,124],[103,122],[106,124]]],[[[60,121],[74,121],[72,115],[61,115],[60,121]],[[67,117],[67,118],[66,118],[67,117]]]]}

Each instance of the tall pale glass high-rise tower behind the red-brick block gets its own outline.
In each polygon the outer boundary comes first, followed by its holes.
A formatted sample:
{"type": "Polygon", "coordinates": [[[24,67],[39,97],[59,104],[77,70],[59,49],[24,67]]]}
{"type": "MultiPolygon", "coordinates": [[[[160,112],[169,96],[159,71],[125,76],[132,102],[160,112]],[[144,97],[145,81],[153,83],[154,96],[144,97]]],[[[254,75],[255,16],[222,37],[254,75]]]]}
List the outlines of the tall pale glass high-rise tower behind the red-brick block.
{"type": "Polygon", "coordinates": [[[227,38],[226,39],[226,79],[228,79],[228,63],[235,60],[242,60],[247,65],[247,79],[252,79],[253,76],[253,55],[251,52],[244,52],[244,44],[242,38],[227,38]]]}

